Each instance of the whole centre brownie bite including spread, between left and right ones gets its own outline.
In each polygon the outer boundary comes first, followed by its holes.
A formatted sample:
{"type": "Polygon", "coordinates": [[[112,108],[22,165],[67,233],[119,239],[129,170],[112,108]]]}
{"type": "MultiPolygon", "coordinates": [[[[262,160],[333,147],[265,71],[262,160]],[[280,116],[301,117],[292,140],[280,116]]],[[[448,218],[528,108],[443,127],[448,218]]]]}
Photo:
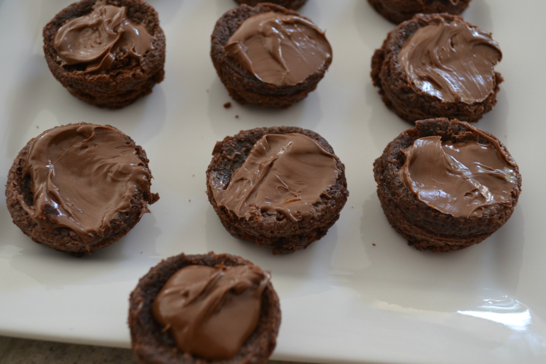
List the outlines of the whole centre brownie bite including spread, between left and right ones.
{"type": "Polygon", "coordinates": [[[224,228],[273,254],[326,235],[349,195],[333,148],[298,127],[245,130],[217,142],[206,182],[224,228]]]}

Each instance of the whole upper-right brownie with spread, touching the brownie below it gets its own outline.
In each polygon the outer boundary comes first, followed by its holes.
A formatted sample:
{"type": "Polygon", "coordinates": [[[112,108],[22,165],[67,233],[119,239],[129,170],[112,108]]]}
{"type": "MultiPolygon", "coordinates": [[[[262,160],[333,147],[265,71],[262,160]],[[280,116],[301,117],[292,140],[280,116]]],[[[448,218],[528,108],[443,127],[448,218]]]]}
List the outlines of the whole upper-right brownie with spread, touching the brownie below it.
{"type": "Polygon", "coordinates": [[[478,121],[497,103],[502,53],[490,33],[450,14],[419,14],[391,31],[372,58],[383,102],[404,120],[478,121]]]}

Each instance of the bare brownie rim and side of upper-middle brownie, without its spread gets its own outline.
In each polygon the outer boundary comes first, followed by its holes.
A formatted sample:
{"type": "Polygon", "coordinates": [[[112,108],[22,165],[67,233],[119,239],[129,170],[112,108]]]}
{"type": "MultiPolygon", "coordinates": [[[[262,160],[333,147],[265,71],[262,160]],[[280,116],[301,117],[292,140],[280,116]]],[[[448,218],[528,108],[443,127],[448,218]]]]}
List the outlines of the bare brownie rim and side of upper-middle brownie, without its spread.
{"type": "Polygon", "coordinates": [[[242,22],[252,15],[268,11],[307,19],[294,10],[275,4],[259,3],[256,7],[241,4],[239,7],[227,11],[216,22],[211,36],[210,55],[220,80],[236,102],[286,109],[293,103],[304,99],[309,92],[317,87],[318,81],[324,77],[324,73],[331,63],[331,58],[321,69],[294,86],[271,85],[258,80],[256,76],[243,69],[235,59],[225,53],[224,45],[242,22]]]}

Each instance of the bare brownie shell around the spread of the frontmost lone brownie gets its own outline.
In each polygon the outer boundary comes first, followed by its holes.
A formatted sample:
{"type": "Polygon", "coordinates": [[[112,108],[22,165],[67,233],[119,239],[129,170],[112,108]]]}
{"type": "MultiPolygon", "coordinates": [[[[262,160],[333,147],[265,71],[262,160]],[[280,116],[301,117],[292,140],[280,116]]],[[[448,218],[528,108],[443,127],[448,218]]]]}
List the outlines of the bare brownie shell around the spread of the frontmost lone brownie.
{"type": "MultiPolygon", "coordinates": [[[[167,280],[178,270],[188,265],[215,267],[224,264],[238,266],[250,261],[229,254],[180,254],[163,260],[142,277],[129,299],[129,329],[136,358],[146,364],[205,364],[211,361],[182,353],[174,338],[152,314],[153,300],[167,280]]],[[[268,361],[276,345],[281,324],[281,309],[278,296],[271,282],[262,294],[262,308],[256,329],[232,359],[215,361],[218,364],[260,364],[268,361]]]]}

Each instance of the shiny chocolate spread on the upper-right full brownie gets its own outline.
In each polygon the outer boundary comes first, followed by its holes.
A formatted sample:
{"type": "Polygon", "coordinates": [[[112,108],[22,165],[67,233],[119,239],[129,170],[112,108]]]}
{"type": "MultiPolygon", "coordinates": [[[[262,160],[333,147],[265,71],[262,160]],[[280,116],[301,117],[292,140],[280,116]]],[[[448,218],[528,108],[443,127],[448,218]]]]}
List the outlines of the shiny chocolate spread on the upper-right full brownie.
{"type": "Polygon", "coordinates": [[[495,88],[502,53],[491,34],[433,16],[402,46],[398,62],[416,92],[444,102],[482,102],[495,88]]]}

